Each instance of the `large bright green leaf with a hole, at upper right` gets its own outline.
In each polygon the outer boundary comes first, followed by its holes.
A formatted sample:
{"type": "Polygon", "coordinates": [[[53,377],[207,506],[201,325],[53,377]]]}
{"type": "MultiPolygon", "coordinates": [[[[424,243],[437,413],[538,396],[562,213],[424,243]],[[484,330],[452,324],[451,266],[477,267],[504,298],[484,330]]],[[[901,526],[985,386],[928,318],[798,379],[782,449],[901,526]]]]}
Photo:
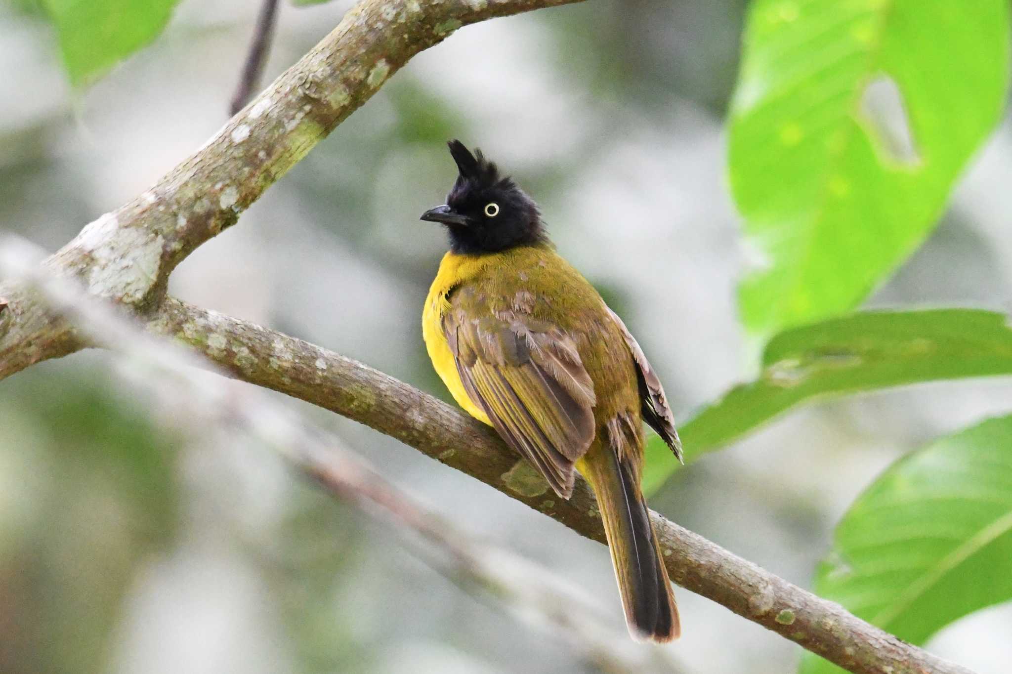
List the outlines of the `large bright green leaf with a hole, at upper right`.
{"type": "Polygon", "coordinates": [[[729,140],[761,258],[740,287],[751,332],[853,309],[924,240],[1004,107],[1007,4],[752,3],[729,140]],[[898,90],[909,150],[888,115],[862,109],[872,83],[898,90]]]}

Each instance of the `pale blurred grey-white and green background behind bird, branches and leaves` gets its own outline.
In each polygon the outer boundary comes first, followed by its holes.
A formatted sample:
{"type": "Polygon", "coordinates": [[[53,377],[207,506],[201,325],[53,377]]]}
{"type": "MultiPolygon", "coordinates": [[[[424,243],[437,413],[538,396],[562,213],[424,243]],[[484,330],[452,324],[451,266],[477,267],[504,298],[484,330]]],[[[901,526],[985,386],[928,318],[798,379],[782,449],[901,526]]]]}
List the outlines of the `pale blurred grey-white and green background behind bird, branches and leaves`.
{"type": "MultiPolygon", "coordinates": [[[[56,250],[200,146],[228,118],[257,4],[183,0],[152,47],[73,91],[33,3],[0,0],[0,230],[56,250]]],[[[539,202],[684,420],[755,367],[736,315],[746,255],[722,133],[745,4],[595,0],[463,28],[187,259],[170,291],[448,399],[420,330],[445,240],[418,216],[450,186],[444,142],[458,137],[539,202]]],[[[282,4],[267,77],[349,6],[282,4]]],[[[1005,123],[871,304],[1012,309],[1010,173],[1005,123]]],[[[159,430],[110,362],[89,351],[0,384],[0,671],[594,671],[262,447],[159,430]]],[[[810,587],[862,486],[936,435],[1004,411],[1010,395],[999,382],[940,384],[807,408],[680,471],[651,503],[810,587]]],[[[391,438],[273,397],[465,530],[582,586],[624,643],[604,546],[391,438]]],[[[675,671],[794,669],[793,645],[678,596],[675,671]]],[[[1009,634],[1012,607],[998,606],[929,648],[997,674],[1012,662],[1009,634]]]]}

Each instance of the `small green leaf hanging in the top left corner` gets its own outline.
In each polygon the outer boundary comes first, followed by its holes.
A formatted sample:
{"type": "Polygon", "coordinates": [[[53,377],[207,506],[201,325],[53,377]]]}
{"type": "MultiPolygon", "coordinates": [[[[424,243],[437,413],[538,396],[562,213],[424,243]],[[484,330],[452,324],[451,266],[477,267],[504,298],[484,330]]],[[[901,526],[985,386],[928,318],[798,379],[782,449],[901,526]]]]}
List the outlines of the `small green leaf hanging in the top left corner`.
{"type": "Polygon", "coordinates": [[[94,82],[153,40],[179,0],[43,0],[75,86],[94,82]]]}

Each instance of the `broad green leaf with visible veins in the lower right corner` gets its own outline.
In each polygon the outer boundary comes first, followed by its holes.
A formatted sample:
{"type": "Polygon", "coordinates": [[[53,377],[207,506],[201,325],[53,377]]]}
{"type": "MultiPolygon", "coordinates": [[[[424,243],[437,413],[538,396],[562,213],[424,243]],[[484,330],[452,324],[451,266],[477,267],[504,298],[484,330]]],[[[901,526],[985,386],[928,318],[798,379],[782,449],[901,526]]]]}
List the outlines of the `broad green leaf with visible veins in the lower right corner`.
{"type": "MultiPolygon", "coordinates": [[[[1012,599],[1012,415],[900,459],[836,529],[816,592],[900,639],[1012,599]]],[[[807,653],[803,674],[843,670],[807,653]]]]}

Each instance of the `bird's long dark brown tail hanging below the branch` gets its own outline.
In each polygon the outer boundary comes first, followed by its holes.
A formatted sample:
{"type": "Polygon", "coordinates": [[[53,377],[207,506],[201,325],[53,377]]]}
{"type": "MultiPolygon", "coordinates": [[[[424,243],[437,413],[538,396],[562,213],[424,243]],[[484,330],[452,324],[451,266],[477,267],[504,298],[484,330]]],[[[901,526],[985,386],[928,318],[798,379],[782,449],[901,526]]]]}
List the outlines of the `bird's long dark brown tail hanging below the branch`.
{"type": "Polygon", "coordinates": [[[678,639],[675,595],[631,467],[601,446],[592,447],[583,464],[597,495],[629,634],[638,641],[678,639]]]}

